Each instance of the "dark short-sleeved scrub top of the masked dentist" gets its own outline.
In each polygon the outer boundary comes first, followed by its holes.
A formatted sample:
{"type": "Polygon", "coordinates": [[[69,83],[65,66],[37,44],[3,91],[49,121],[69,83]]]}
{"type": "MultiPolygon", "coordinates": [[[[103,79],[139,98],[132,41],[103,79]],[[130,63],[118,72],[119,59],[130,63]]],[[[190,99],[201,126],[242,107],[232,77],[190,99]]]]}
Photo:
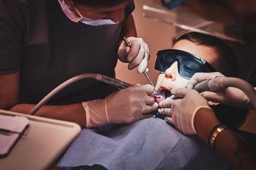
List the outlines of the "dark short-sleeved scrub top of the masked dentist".
{"type": "MultiPolygon", "coordinates": [[[[126,7],[126,16],[134,3],[126,7]]],[[[20,69],[20,103],[36,104],[56,86],[82,73],[115,76],[119,24],[72,22],[56,0],[0,0],[0,74],[20,69]]],[[[83,79],[47,104],[102,99],[112,86],[83,79]]]]}

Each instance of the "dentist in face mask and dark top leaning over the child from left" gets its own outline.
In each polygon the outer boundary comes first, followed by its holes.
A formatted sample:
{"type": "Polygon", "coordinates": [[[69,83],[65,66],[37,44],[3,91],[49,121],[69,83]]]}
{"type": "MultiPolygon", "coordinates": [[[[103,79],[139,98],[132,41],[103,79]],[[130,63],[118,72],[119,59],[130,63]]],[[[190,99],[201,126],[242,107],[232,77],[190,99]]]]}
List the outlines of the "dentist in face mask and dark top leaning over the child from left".
{"type": "MultiPolygon", "coordinates": [[[[150,54],[136,38],[134,8],[133,0],[0,0],[0,109],[29,113],[56,86],[82,73],[115,77],[117,58],[142,73],[150,54]],[[124,36],[130,47],[120,42],[124,36]]],[[[150,85],[116,90],[83,79],[36,115],[90,128],[152,117],[142,113],[158,107],[150,85]]]]}

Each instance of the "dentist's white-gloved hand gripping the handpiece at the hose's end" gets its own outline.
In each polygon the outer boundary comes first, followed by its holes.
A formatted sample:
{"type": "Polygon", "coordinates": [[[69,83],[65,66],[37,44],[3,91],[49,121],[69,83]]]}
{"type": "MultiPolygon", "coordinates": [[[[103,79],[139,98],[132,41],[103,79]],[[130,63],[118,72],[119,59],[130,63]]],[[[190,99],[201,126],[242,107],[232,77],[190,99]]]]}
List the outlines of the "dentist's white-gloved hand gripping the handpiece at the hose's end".
{"type": "Polygon", "coordinates": [[[121,89],[105,99],[83,102],[86,114],[86,127],[97,127],[105,124],[130,124],[135,121],[153,117],[149,113],[157,110],[151,94],[153,86],[146,84],[121,89]]]}

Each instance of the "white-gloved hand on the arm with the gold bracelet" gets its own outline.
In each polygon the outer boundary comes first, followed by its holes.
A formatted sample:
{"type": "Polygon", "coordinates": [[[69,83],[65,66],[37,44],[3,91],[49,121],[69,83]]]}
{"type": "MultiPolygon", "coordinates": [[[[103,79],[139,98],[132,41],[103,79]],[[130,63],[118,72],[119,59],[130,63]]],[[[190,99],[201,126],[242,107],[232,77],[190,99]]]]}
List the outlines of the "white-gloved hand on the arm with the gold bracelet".
{"type": "Polygon", "coordinates": [[[159,103],[158,113],[165,116],[165,120],[174,124],[177,130],[186,134],[196,134],[194,117],[200,108],[209,108],[208,102],[197,91],[187,88],[173,88],[171,93],[182,99],[163,100],[159,103]]]}

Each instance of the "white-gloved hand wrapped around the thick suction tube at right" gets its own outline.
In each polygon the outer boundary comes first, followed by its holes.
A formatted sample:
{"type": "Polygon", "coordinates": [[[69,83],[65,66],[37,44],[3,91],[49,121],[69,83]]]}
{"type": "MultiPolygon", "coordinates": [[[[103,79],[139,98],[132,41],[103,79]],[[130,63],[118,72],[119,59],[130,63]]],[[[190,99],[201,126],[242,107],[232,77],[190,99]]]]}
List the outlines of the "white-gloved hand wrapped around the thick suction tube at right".
{"type": "MultiPolygon", "coordinates": [[[[219,72],[215,73],[195,73],[185,88],[193,88],[198,82],[207,79],[213,79],[216,76],[224,76],[219,72]]],[[[224,76],[225,77],[225,76],[224,76]]],[[[254,88],[256,90],[256,88],[254,88]]],[[[248,96],[238,88],[229,87],[223,92],[202,92],[201,95],[208,101],[215,101],[229,106],[236,106],[238,108],[254,108],[248,96]]]]}

